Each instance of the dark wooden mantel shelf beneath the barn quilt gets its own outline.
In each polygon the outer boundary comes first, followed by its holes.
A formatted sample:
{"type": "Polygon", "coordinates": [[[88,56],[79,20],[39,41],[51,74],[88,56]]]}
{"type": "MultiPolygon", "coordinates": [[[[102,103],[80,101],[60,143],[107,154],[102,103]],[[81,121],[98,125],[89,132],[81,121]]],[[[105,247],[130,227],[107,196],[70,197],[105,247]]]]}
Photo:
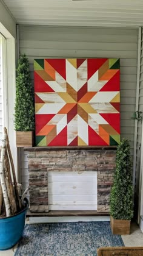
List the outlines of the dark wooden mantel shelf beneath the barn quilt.
{"type": "Polygon", "coordinates": [[[53,146],[24,148],[24,151],[64,151],[64,150],[115,150],[117,146],[53,146]]]}

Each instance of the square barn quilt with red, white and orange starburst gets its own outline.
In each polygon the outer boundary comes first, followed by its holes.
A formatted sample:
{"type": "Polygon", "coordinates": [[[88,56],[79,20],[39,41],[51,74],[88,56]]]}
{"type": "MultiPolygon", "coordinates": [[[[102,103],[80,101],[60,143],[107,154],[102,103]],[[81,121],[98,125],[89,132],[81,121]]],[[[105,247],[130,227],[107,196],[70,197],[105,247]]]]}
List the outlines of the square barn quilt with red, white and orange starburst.
{"type": "Polygon", "coordinates": [[[36,146],[120,141],[119,59],[37,59],[36,146]]]}

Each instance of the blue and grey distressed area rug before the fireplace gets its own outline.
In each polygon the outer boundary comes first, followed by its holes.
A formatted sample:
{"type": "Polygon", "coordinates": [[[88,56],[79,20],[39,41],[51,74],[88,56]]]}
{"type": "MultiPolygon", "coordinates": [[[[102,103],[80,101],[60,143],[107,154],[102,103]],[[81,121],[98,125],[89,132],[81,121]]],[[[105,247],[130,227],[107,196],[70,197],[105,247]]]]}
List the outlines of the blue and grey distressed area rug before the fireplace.
{"type": "Polygon", "coordinates": [[[15,256],[96,256],[104,246],[124,246],[110,222],[27,224],[15,256]]]}

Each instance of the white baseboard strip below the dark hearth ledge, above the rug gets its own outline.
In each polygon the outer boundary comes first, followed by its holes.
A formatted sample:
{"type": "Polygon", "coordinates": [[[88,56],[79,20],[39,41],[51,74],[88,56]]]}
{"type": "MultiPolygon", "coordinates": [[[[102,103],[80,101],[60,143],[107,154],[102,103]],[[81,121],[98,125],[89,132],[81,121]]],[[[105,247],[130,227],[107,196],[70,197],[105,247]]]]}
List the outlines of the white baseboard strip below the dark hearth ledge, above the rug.
{"type": "Polygon", "coordinates": [[[29,217],[30,224],[53,223],[53,222],[79,222],[79,221],[110,221],[110,216],[89,216],[89,217],[29,217]]]}

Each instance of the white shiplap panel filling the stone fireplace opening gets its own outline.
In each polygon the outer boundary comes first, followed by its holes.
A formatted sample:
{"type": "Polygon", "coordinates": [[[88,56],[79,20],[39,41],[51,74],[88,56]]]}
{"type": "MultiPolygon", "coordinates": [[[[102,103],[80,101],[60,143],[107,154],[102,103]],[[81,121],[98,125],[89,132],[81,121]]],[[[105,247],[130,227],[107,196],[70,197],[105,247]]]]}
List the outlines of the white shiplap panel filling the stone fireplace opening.
{"type": "Polygon", "coordinates": [[[49,210],[97,210],[97,172],[48,172],[49,210]]]}

